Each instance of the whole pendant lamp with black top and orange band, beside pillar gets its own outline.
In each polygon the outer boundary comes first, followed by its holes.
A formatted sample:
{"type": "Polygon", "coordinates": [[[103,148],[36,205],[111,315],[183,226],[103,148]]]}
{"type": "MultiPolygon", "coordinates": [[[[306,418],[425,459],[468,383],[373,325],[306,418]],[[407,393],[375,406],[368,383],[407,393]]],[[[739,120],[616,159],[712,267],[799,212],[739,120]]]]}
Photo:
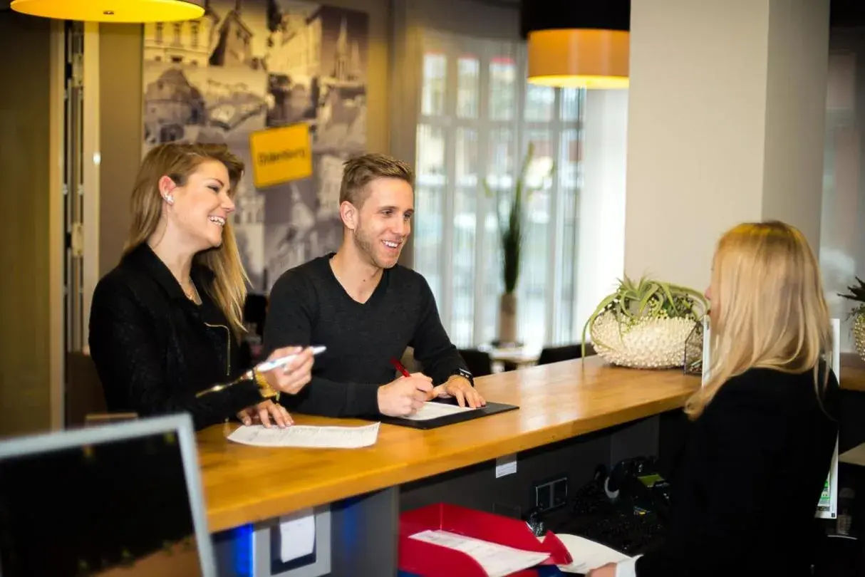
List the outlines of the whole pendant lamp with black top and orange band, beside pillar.
{"type": "Polygon", "coordinates": [[[530,84],[628,87],[630,0],[522,0],[520,16],[530,84]]]}

